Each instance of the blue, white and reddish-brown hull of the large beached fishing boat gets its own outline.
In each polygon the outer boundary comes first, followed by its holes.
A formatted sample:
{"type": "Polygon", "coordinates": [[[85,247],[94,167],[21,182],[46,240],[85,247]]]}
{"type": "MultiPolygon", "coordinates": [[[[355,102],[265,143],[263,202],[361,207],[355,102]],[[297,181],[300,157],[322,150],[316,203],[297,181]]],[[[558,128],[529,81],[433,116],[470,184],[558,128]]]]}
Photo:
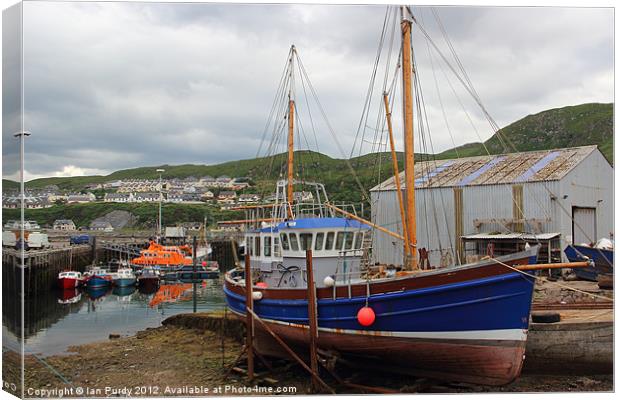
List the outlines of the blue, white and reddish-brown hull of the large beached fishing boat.
{"type": "MultiPolygon", "coordinates": [[[[526,257],[511,264],[527,261],[526,257]]],[[[358,293],[352,297],[346,296],[346,287],[344,292],[321,288],[317,291],[318,345],[345,357],[405,367],[417,376],[508,384],[523,366],[534,278],[500,267],[489,264],[430,274],[430,280],[421,275],[395,279],[389,285],[358,285],[361,288],[351,288],[351,293],[358,293]],[[450,283],[441,284],[445,281],[450,283]],[[339,293],[346,297],[339,298],[339,293]],[[357,312],[366,304],[376,315],[369,327],[357,320],[357,312]]],[[[228,307],[244,316],[243,292],[230,280],[224,291],[228,307]]],[[[306,290],[254,291],[263,293],[254,302],[255,313],[300,355],[307,354],[307,301],[301,297],[306,290]]],[[[255,329],[260,353],[286,356],[260,324],[255,329]]]]}

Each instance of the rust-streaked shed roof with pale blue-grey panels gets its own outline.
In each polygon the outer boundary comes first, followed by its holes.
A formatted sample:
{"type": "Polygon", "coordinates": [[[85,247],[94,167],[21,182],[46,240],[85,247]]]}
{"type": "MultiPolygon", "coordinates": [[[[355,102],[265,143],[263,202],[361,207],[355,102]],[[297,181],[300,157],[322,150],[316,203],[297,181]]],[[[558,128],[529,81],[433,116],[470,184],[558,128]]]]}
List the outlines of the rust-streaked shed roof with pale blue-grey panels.
{"type": "MultiPolygon", "coordinates": [[[[522,153],[421,161],[415,164],[416,188],[459,187],[525,182],[555,181],[563,178],[596,146],[528,151],[522,153]]],[[[400,174],[404,184],[404,172],[400,174]]],[[[394,190],[394,177],[370,189],[394,190]]]]}

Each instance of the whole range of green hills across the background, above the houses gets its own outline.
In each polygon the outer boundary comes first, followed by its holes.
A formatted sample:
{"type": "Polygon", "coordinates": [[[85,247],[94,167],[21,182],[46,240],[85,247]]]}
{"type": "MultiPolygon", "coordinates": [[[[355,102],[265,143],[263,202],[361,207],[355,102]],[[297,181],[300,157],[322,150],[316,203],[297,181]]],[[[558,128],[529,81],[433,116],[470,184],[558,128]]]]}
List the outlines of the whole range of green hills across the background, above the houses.
{"type": "MultiPolygon", "coordinates": [[[[560,147],[596,144],[607,159],[613,161],[613,104],[582,104],[547,110],[528,115],[500,131],[502,137],[508,138],[518,151],[544,150],[560,147]]],[[[514,148],[504,148],[498,134],[485,142],[492,154],[513,152],[514,148]]],[[[438,159],[484,155],[481,143],[470,143],[437,154],[438,159]]],[[[416,155],[416,160],[425,158],[416,155]]],[[[399,154],[402,168],[402,154],[399,154]]],[[[297,178],[320,181],[334,201],[359,201],[360,190],[352,178],[346,160],[331,158],[327,155],[298,151],[295,155],[297,178]]],[[[355,170],[362,186],[367,190],[386,179],[392,171],[389,153],[366,154],[348,160],[355,170]]],[[[253,191],[271,193],[275,180],[285,176],[286,154],[248,160],[229,161],[217,165],[159,165],[116,171],[107,176],[80,176],[66,178],[41,178],[29,181],[27,187],[39,188],[54,184],[63,190],[83,190],[89,183],[103,183],[118,179],[149,178],[159,175],[155,171],[163,168],[164,178],[185,178],[188,176],[213,177],[228,175],[230,177],[248,177],[256,186],[253,191]]],[[[3,180],[4,188],[15,188],[15,182],[3,180]]]]}

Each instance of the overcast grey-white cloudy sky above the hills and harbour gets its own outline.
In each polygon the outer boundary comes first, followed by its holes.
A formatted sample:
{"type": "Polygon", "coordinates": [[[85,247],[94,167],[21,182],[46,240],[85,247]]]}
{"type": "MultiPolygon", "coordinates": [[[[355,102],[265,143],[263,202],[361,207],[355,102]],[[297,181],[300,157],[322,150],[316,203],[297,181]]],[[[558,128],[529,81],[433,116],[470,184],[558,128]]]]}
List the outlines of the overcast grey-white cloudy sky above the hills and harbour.
{"type": "MultiPolygon", "coordinates": [[[[27,139],[26,179],[254,157],[293,43],[348,156],[385,10],[383,5],[27,2],[24,104],[26,129],[33,135],[27,139]]],[[[612,9],[436,11],[500,126],[548,108],[613,101],[612,9]]],[[[448,54],[431,10],[414,8],[414,13],[448,54]]],[[[419,30],[414,49],[434,150],[491,136],[439,57],[429,57],[419,30]]],[[[16,143],[6,123],[12,110],[6,86],[5,81],[3,175],[14,177],[10,153],[16,143]]],[[[374,125],[376,114],[368,125],[374,125]]],[[[317,126],[317,138],[319,151],[343,157],[325,125],[317,126]]],[[[370,150],[368,144],[354,153],[370,150]]]]}

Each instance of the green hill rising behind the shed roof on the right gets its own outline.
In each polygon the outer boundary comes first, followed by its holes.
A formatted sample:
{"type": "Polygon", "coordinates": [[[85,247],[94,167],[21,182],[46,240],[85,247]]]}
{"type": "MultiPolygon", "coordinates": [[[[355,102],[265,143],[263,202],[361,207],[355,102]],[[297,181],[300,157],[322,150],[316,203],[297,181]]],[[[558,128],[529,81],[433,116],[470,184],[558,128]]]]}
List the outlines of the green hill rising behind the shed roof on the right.
{"type": "MultiPolygon", "coordinates": [[[[502,128],[484,142],[491,154],[518,151],[546,150],[562,147],[598,145],[603,155],[613,163],[613,103],[589,103],[554,108],[528,115],[502,128]],[[501,139],[510,143],[502,144],[501,139]]],[[[469,143],[444,151],[437,158],[470,157],[486,154],[481,143],[469,143]]]]}

